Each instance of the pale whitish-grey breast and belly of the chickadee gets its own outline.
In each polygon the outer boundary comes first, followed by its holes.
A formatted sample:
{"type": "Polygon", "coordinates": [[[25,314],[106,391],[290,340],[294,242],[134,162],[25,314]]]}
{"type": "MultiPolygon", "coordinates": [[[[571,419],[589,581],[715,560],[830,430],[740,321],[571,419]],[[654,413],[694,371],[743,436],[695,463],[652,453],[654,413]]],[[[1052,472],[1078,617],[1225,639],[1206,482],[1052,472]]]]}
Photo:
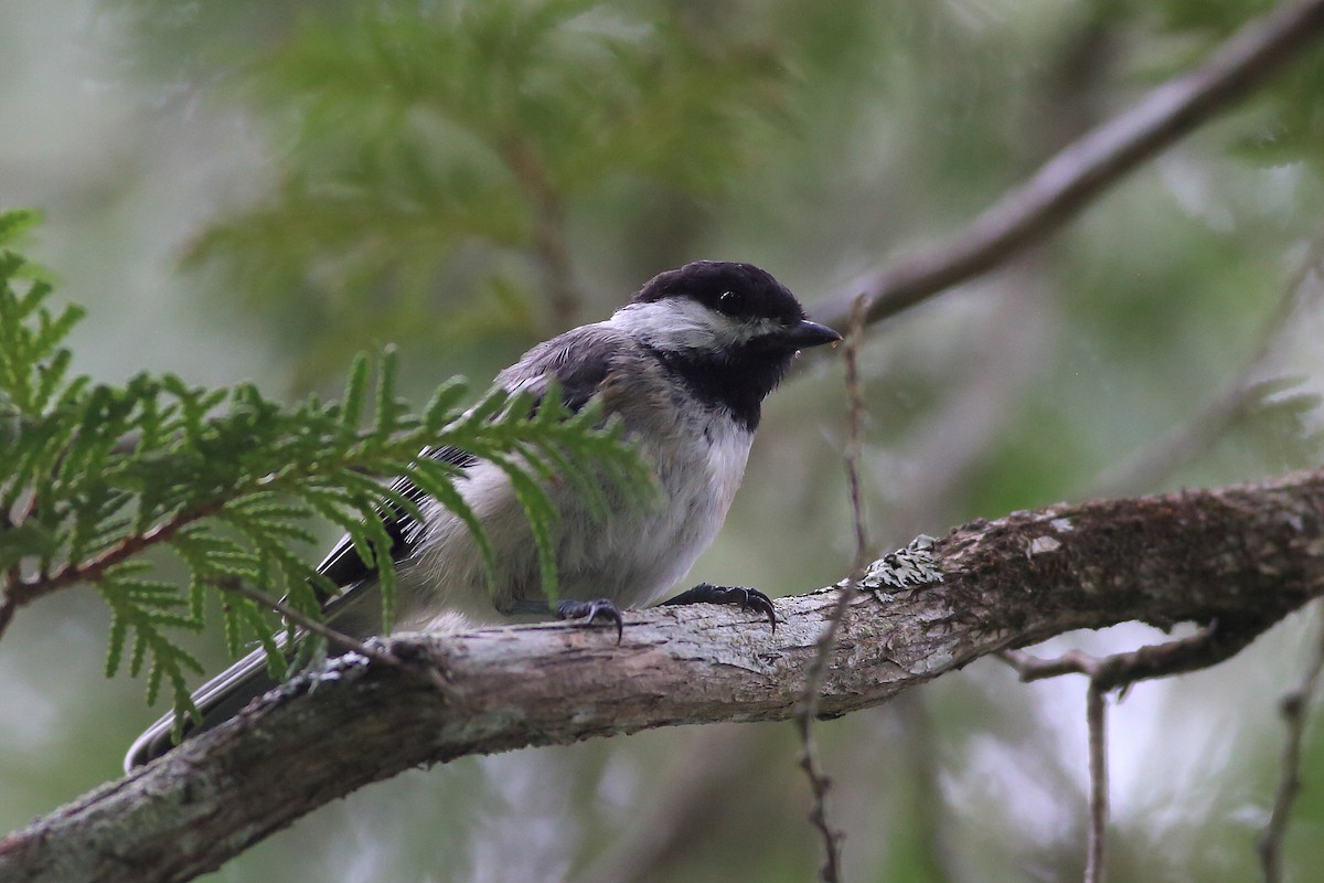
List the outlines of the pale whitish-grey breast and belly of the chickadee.
{"type": "MultiPolygon", "coordinates": [[[[726,410],[695,400],[609,323],[581,332],[602,335],[610,347],[612,369],[598,395],[624,421],[661,494],[639,504],[605,486],[610,514],[594,519],[569,483],[548,485],[559,511],[549,528],[557,597],[646,606],[665,597],[716,536],[744,475],[753,433],[726,410]]],[[[479,462],[459,479],[459,491],[496,551],[496,592],[467,527],[432,504],[417,552],[401,567],[400,627],[434,627],[440,617],[450,622],[457,612],[467,622],[502,622],[520,602],[544,600],[536,545],[506,475],[479,462]]]]}

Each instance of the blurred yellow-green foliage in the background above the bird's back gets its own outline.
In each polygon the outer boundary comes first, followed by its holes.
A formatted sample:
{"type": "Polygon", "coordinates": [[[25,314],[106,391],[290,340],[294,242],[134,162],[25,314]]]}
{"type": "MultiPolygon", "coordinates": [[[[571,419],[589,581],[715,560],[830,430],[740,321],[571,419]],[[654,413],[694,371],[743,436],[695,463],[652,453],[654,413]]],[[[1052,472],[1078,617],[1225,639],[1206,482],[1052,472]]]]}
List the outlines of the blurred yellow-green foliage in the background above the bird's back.
{"type": "MultiPolygon", "coordinates": [[[[307,340],[327,326],[442,342],[563,330],[535,322],[555,294],[532,278],[548,267],[527,267],[569,259],[568,213],[613,181],[715,199],[776,132],[777,57],[673,19],[601,0],[303,16],[230,87],[279,144],[279,185],[196,240],[189,265],[281,322],[319,323],[307,340]],[[475,254],[471,285],[437,285],[475,254]],[[450,320],[420,322],[438,298],[450,320]]],[[[315,371],[334,357],[307,355],[315,371]]]]}

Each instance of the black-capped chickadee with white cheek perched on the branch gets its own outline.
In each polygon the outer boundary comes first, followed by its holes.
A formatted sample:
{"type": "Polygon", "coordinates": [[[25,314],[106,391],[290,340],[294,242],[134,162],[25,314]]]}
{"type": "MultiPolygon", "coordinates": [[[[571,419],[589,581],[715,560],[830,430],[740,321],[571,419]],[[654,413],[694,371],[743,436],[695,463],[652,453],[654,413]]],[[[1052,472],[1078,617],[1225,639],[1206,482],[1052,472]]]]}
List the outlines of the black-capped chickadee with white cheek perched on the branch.
{"type": "MultiPolygon", "coordinates": [[[[604,322],[536,344],[502,371],[495,385],[538,396],[555,391],[571,412],[597,400],[616,416],[650,469],[658,494],[641,506],[609,498],[596,518],[572,487],[552,486],[551,527],[557,567],[555,604],[542,593],[536,544],[510,479],[498,466],[454,447],[426,449],[459,471],[458,490],[495,552],[491,581],[481,547],[462,519],[406,479],[392,486],[413,499],[420,520],[383,506],[395,545],[396,630],[458,631],[532,617],[616,627],[621,609],[657,604],[716,536],[744,475],[764,398],[801,349],[841,342],[810,320],[800,301],[752,263],[694,261],[646,282],[604,322]]],[[[381,629],[380,602],[364,602],[376,572],[348,535],[318,571],[342,586],[324,616],[348,635],[381,629]]],[[[735,604],[765,616],[768,596],[744,586],[700,582],[665,604],[735,604]]],[[[185,736],[232,718],[275,682],[258,649],[192,696],[201,716],[185,736]]],[[[173,747],[173,716],[139,736],[126,772],[173,747]]]]}

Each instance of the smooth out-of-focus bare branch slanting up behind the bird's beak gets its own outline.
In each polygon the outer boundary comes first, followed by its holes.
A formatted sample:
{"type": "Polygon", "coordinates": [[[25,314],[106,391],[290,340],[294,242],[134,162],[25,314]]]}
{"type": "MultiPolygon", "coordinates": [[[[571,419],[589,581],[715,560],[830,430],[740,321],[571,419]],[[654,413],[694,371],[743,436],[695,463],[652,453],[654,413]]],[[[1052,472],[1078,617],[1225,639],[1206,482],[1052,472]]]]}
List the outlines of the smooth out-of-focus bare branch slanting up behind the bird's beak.
{"type": "Polygon", "coordinates": [[[1127,113],[1066,147],[947,242],[891,262],[810,312],[828,324],[845,323],[851,303],[863,294],[870,301],[869,322],[879,322],[1005,263],[1259,86],[1320,36],[1324,0],[1272,9],[1233,34],[1201,68],[1160,85],[1127,113]]]}

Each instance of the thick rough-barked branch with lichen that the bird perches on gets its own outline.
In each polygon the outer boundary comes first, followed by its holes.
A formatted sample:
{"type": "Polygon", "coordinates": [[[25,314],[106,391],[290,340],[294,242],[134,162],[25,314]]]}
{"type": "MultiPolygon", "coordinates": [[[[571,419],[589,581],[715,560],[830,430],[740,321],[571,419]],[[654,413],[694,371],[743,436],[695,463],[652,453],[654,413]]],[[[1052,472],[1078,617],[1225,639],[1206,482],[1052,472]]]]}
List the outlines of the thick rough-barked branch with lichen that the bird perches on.
{"type": "MultiPolygon", "coordinates": [[[[1214,653],[1186,667],[1210,665],[1324,594],[1321,527],[1324,471],[972,522],[935,543],[941,582],[855,597],[822,714],[879,704],[1005,647],[1131,620],[1215,624],[1214,653]]],[[[335,661],[11,834],[0,880],[187,880],[418,764],[790,718],[837,592],[779,600],[775,634],[739,610],[678,608],[629,614],[620,646],[609,630],[565,624],[400,635],[389,647],[409,667],[335,661]]]]}

